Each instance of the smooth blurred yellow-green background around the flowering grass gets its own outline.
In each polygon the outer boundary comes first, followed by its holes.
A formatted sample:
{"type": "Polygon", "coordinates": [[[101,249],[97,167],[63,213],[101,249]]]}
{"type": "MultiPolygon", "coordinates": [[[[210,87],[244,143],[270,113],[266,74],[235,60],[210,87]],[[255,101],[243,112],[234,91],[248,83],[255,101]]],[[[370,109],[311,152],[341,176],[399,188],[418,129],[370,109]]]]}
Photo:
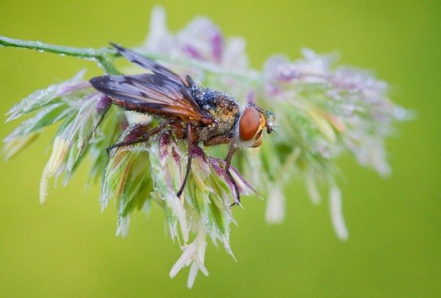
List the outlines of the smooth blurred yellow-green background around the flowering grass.
{"type": "MultiPolygon", "coordinates": [[[[143,41],[152,1],[1,1],[0,34],[59,45],[131,47],[143,41]]],[[[180,255],[163,212],[132,217],[115,237],[116,211],[100,212],[99,187],[85,191],[88,167],[68,187],[39,181],[55,129],[2,162],[0,297],[441,297],[440,1],[165,1],[172,30],[196,15],[226,36],[244,36],[253,67],[270,54],[301,47],[338,51],[340,62],[371,69],[391,84],[393,100],[418,112],[387,142],[393,174],[383,179],[349,156],[339,160],[349,240],[331,228],[329,206],[314,206],[300,181],[287,190],[287,220],[264,222],[265,202],[234,211],[234,262],[211,243],[206,264],[186,288],[188,269],[170,280],[180,255]]],[[[15,123],[4,114],[35,89],[70,78],[93,62],[0,49],[3,139],[15,123]]]]}

